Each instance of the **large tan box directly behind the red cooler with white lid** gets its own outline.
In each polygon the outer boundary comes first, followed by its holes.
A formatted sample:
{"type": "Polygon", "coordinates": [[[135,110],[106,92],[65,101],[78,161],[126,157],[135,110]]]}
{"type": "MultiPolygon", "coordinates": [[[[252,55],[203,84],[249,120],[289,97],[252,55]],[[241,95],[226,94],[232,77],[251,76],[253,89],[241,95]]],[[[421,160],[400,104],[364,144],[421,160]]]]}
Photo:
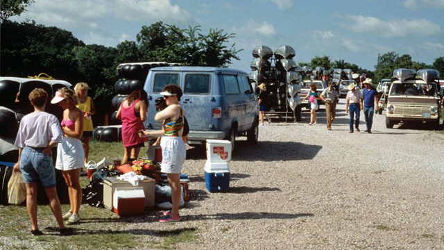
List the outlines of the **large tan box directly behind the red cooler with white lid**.
{"type": "MultiPolygon", "coordinates": [[[[145,208],[154,208],[154,188],[155,181],[153,178],[148,178],[139,181],[138,187],[144,189],[145,194],[145,208]]],[[[128,181],[117,180],[116,176],[103,178],[103,205],[105,208],[112,210],[112,199],[116,188],[136,188],[128,181]]]]}

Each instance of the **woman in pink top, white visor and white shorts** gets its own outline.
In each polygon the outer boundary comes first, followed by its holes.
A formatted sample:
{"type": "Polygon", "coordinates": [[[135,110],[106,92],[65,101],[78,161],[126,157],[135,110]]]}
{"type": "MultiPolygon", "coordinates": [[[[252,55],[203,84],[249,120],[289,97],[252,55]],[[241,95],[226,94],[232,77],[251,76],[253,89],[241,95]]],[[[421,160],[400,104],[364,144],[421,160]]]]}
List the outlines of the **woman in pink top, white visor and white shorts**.
{"type": "Polygon", "coordinates": [[[57,147],[56,169],[62,170],[63,178],[68,186],[69,211],[63,215],[68,224],[80,221],[78,212],[82,203],[82,188],[80,187],[80,171],[83,168],[85,153],[83,151],[83,112],[76,107],[76,92],[69,88],[61,88],[56,92],[51,103],[58,103],[63,108],[62,143],[57,147]]]}

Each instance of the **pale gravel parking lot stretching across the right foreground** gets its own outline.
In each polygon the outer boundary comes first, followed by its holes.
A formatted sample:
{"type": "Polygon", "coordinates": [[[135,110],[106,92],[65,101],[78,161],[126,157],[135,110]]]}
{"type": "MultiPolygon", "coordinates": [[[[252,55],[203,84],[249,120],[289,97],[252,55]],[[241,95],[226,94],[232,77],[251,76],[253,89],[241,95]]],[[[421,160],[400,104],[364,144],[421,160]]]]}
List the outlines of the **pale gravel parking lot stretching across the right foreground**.
{"type": "Polygon", "coordinates": [[[230,192],[207,192],[205,156],[189,151],[183,222],[158,227],[198,228],[180,249],[444,249],[444,134],[387,129],[384,113],[350,134],[344,103],[332,131],[321,110],[315,126],[302,113],[260,126],[257,146],[239,139],[230,192]]]}

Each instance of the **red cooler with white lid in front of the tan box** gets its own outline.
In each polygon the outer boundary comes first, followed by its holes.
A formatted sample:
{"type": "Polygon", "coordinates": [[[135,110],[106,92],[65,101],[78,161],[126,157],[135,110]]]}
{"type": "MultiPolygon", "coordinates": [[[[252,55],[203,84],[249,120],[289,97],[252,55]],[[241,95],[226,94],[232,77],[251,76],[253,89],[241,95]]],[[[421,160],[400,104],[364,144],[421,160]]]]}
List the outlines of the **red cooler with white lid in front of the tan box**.
{"type": "Polygon", "coordinates": [[[144,214],[144,188],[116,188],[112,195],[112,208],[119,216],[144,214]]]}

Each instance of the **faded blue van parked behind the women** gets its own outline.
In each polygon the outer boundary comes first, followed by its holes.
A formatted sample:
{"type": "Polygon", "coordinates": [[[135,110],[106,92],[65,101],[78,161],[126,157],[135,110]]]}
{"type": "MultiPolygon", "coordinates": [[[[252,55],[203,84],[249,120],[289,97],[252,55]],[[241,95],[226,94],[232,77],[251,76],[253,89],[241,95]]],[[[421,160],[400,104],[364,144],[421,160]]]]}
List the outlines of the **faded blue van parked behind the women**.
{"type": "Polygon", "coordinates": [[[145,127],[162,129],[155,122],[155,99],[165,85],[182,88],[180,106],[189,124],[188,144],[205,144],[207,139],[230,140],[232,150],[237,136],[246,136],[256,144],[259,136],[257,97],[248,74],[237,69],[218,67],[155,67],[150,69],[144,90],[149,109],[145,127]]]}

